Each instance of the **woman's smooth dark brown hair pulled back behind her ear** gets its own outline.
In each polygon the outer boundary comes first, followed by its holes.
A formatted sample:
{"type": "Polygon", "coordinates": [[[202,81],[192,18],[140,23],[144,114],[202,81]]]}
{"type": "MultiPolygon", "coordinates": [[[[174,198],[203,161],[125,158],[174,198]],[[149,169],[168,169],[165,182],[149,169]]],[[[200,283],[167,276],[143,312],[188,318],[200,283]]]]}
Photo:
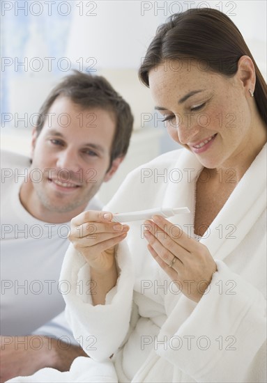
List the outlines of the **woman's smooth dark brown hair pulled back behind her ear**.
{"type": "Polygon", "coordinates": [[[241,56],[250,56],[256,72],[254,97],[267,123],[267,87],[241,32],[227,15],[211,8],[190,9],[171,15],[158,27],[139,68],[139,78],[149,87],[148,72],[165,60],[203,61],[208,69],[227,77],[235,75],[241,56]]]}

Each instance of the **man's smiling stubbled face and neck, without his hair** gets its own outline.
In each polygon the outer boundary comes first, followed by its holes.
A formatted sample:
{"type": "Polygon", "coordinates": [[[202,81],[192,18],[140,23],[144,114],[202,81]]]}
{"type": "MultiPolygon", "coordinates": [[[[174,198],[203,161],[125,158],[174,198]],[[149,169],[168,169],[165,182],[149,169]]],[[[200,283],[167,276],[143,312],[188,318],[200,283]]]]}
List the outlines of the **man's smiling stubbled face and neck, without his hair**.
{"type": "Polygon", "coordinates": [[[29,180],[28,193],[22,194],[27,210],[44,221],[59,217],[58,222],[82,212],[119,166],[115,159],[109,169],[114,132],[111,112],[84,110],[68,97],[57,98],[40,134],[33,133],[31,169],[43,178],[29,180]]]}

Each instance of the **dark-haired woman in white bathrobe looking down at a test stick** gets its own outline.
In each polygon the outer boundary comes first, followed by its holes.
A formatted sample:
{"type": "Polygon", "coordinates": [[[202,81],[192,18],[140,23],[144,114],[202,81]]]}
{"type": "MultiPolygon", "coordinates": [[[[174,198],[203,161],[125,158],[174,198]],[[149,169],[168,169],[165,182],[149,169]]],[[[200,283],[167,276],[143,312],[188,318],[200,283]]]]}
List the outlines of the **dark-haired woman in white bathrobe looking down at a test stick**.
{"type": "Polygon", "coordinates": [[[160,26],[139,75],[183,149],[130,173],[105,212],[73,219],[61,279],[91,359],[76,359],[68,379],[265,382],[264,79],[211,9],[160,26]],[[190,214],[112,222],[111,212],[159,206],[190,214]]]}

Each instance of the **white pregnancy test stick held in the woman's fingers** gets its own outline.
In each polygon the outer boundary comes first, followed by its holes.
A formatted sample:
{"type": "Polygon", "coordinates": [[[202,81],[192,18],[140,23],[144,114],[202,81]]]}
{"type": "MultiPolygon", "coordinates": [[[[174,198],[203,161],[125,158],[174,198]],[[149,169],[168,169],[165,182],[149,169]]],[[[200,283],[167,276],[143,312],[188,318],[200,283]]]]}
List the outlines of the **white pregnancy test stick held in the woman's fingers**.
{"type": "Polygon", "coordinates": [[[173,217],[176,214],[190,213],[188,208],[155,208],[149,210],[140,210],[139,212],[128,212],[113,214],[113,221],[115,222],[130,222],[151,219],[153,215],[158,214],[163,217],[173,217]]]}

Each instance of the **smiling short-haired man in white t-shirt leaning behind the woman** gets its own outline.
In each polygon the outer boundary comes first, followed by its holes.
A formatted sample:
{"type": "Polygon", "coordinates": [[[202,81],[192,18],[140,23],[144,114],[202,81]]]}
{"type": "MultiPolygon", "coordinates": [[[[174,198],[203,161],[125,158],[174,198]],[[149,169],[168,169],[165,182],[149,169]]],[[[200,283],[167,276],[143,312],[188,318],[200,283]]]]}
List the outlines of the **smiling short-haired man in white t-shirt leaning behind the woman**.
{"type": "Polygon", "coordinates": [[[58,283],[69,223],[100,208],[93,196],[121,164],[132,125],[129,105],[103,77],[76,71],[40,108],[31,160],[2,153],[1,382],[42,367],[65,371],[84,355],[64,322],[68,281],[58,283]]]}

